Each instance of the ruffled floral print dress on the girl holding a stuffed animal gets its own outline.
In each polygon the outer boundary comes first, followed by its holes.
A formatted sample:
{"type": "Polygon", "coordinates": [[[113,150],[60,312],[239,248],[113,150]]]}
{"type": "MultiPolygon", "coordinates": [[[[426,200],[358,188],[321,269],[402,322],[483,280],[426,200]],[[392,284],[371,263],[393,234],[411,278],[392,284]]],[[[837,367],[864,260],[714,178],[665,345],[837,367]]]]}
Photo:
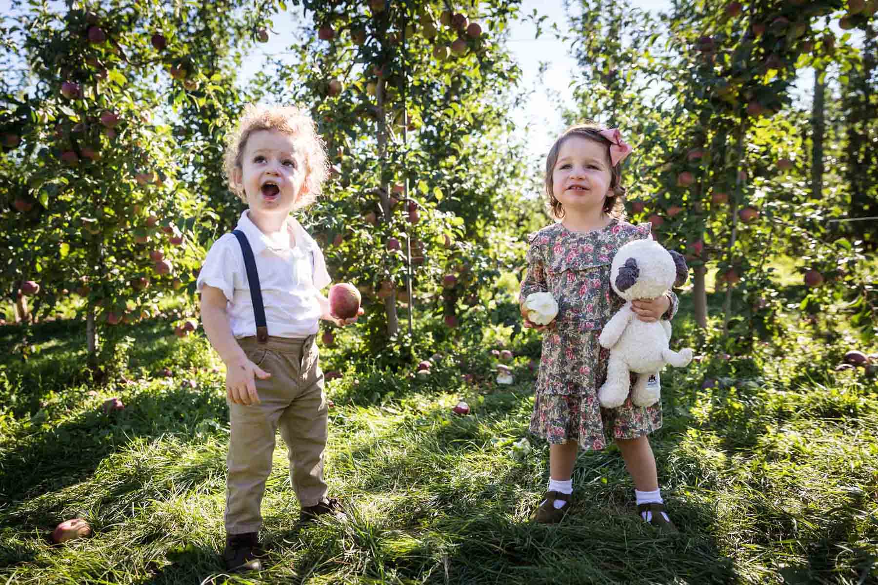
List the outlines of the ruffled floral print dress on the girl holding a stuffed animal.
{"type": "MultiPolygon", "coordinates": [[[[603,409],[598,389],[607,378],[609,350],[598,337],[625,303],[610,287],[610,265],[618,250],[634,239],[651,237],[651,224],[618,219],[593,232],[572,232],[557,223],[529,237],[528,274],[521,297],[550,292],[558,302],[555,326],[543,333],[543,355],[536,378],[530,432],[551,444],[568,439],[581,449],[603,449],[610,439],[637,439],[661,428],[661,403],[603,409]]],[[[662,318],[671,318],[678,300],[662,318]]],[[[631,375],[633,383],[636,375],[631,375]]]]}

